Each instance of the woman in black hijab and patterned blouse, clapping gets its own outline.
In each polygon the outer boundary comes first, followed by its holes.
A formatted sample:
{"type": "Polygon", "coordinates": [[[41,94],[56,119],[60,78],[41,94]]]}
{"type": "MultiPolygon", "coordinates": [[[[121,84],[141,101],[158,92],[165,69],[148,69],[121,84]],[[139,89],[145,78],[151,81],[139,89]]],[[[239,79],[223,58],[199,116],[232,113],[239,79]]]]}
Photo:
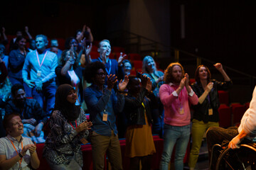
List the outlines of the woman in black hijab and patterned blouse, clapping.
{"type": "Polygon", "coordinates": [[[82,169],[80,143],[85,143],[92,123],[84,111],[75,106],[77,94],[69,84],[62,84],[55,94],[55,108],[50,115],[50,133],[43,156],[51,169],[82,169]]]}

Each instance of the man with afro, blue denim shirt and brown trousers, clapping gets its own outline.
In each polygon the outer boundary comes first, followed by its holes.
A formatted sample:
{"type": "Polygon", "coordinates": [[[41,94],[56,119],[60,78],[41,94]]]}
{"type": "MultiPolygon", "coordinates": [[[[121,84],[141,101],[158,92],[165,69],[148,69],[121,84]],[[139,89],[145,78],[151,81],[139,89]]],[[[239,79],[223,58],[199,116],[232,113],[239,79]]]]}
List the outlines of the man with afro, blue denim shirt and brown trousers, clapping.
{"type": "MultiPolygon", "coordinates": [[[[110,160],[112,169],[122,169],[122,156],[117,136],[116,115],[124,108],[124,96],[115,94],[113,87],[117,77],[107,76],[105,86],[105,65],[102,62],[92,62],[85,68],[85,79],[92,83],[85,89],[85,103],[92,121],[92,160],[93,169],[104,168],[104,157],[110,160]]],[[[119,83],[119,91],[124,91],[129,79],[119,83]]]]}

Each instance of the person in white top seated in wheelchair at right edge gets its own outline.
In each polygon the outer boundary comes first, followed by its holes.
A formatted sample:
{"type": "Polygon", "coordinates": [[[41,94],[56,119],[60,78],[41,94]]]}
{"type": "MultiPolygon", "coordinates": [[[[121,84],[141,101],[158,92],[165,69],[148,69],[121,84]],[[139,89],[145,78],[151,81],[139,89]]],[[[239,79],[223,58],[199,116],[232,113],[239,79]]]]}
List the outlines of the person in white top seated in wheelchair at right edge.
{"type": "Polygon", "coordinates": [[[220,169],[221,162],[227,164],[223,169],[247,169],[247,164],[254,164],[250,169],[256,169],[256,86],[240,126],[227,129],[210,127],[206,132],[206,140],[210,169],[220,169]]]}

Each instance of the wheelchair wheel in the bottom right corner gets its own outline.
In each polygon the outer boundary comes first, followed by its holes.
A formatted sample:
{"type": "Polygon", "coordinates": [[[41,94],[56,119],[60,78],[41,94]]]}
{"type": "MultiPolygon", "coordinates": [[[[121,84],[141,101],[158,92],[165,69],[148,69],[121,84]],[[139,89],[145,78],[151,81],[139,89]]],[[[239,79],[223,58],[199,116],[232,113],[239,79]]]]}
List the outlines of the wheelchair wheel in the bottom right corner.
{"type": "Polygon", "coordinates": [[[240,145],[240,149],[226,147],[218,157],[216,170],[256,170],[256,145],[240,145]]]}

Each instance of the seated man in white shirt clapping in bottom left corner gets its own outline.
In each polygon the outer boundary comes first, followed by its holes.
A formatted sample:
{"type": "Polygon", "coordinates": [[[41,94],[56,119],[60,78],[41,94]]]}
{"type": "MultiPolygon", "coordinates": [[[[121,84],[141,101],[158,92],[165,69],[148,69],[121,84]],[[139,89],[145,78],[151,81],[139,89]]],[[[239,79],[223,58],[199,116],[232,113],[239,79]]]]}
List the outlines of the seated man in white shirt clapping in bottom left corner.
{"type": "Polygon", "coordinates": [[[0,138],[0,169],[38,169],[36,143],[22,137],[23,123],[16,113],[5,115],[6,137],[0,138]]]}

